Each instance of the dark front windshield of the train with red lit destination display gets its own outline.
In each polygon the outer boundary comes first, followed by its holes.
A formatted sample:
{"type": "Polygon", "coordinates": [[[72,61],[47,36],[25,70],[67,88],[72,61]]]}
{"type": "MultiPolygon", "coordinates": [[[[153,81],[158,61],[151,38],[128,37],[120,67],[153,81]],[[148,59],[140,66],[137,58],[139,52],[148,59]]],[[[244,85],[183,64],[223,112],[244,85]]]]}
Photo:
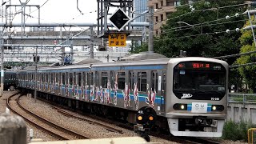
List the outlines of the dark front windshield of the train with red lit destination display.
{"type": "Polygon", "coordinates": [[[220,100],[226,94],[226,69],[214,62],[180,62],[173,84],[180,99],[220,100]]]}

